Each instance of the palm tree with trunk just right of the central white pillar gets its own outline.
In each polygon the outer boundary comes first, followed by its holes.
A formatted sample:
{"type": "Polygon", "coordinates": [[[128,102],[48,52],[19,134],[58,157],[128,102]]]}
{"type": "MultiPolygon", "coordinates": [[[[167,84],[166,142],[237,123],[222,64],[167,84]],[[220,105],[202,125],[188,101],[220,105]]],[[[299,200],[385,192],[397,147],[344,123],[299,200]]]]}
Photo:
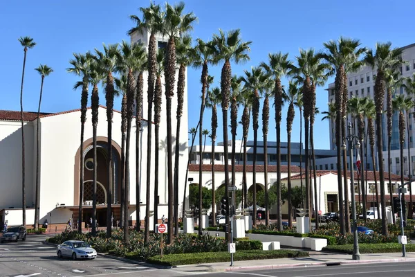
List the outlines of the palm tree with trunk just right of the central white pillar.
{"type": "Polygon", "coordinates": [[[245,88],[252,94],[252,127],[254,129],[254,160],[252,163],[252,186],[253,186],[253,226],[257,226],[257,143],[258,143],[258,121],[259,121],[259,99],[260,92],[268,85],[268,75],[261,67],[252,67],[251,71],[244,71],[245,76],[241,80],[245,83],[245,88]]]}

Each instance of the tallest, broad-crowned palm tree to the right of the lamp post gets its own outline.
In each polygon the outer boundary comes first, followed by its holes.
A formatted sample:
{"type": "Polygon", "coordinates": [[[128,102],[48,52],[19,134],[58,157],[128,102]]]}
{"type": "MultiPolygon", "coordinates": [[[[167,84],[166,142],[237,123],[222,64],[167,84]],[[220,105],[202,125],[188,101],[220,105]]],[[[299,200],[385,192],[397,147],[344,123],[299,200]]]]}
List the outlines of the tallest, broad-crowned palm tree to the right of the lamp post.
{"type": "Polygon", "coordinates": [[[383,177],[383,146],[382,146],[382,111],[385,98],[385,71],[394,69],[403,63],[402,48],[391,48],[391,42],[377,43],[376,52],[369,50],[364,61],[374,69],[376,67],[376,81],[374,87],[376,106],[376,144],[378,146],[378,163],[380,172],[380,202],[382,204],[382,235],[387,235],[387,218],[385,202],[385,179],[383,177]]]}

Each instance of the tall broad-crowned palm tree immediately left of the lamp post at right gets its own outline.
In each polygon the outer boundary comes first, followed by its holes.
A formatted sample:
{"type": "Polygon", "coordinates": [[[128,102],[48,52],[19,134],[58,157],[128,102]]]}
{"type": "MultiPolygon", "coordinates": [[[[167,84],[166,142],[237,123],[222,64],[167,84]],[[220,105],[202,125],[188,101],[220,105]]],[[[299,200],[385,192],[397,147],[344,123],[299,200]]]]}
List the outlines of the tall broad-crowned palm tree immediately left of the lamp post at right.
{"type": "MultiPolygon", "coordinates": [[[[360,48],[360,41],[358,39],[349,39],[345,37],[340,37],[338,41],[329,41],[325,42],[324,48],[326,53],[322,55],[324,60],[329,62],[335,70],[335,104],[337,114],[335,116],[335,143],[337,150],[337,168],[338,168],[338,197],[339,203],[343,203],[343,184],[342,184],[342,137],[346,136],[345,129],[345,116],[347,115],[347,73],[357,71],[362,63],[358,61],[360,55],[366,51],[365,48],[360,48]]],[[[343,163],[345,161],[345,152],[343,152],[343,163]]],[[[346,168],[344,163],[344,168],[346,168]]],[[[347,169],[344,171],[344,188],[346,190],[347,184],[347,169]]],[[[354,195],[353,195],[354,197],[354,195]]],[[[344,224],[345,217],[349,219],[349,214],[344,215],[344,209],[346,211],[349,209],[349,202],[345,202],[345,206],[340,206],[340,233],[343,235],[346,234],[346,231],[349,231],[350,224],[344,224]]]]}

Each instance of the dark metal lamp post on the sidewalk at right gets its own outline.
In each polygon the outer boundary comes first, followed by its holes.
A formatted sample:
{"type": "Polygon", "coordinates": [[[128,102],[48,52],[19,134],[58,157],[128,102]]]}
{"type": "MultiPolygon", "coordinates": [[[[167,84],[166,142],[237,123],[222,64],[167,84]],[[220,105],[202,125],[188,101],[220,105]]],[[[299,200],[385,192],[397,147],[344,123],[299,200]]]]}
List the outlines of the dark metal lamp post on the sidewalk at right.
{"type": "MultiPolygon", "coordinates": [[[[350,191],[353,194],[351,196],[351,213],[353,216],[353,260],[360,260],[360,253],[359,253],[359,242],[358,242],[358,226],[356,220],[356,199],[355,199],[355,190],[354,190],[354,173],[353,173],[353,143],[356,149],[360,148],[359,138],[351,133],[351,123],[347,126],[349,129],[349,134],[345,136],[343,139],[342,149],[346,150],[346,143],[349,143],[349,163],[350,163],[350,191]]],[[[349,216],[349,215],[347,215],[349,216]]]]}

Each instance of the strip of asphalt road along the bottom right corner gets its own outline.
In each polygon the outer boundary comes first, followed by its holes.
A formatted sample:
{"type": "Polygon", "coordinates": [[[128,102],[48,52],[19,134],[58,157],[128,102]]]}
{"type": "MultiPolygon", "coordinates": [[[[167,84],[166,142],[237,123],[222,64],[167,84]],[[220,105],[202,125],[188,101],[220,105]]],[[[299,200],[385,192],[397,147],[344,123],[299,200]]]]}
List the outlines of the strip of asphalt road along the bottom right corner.
{"type": "Polygon", "coordinates": [[[199,277],[317,277],[317,276],[347,276],[347,277],[409,277],[415,276],[415,265],[412,262],[398,262],[367,265],[337,265],[329,267],[293,267],[285,269],[267,269],[258,271],[222,272],[203,274],[199,277]]]}

